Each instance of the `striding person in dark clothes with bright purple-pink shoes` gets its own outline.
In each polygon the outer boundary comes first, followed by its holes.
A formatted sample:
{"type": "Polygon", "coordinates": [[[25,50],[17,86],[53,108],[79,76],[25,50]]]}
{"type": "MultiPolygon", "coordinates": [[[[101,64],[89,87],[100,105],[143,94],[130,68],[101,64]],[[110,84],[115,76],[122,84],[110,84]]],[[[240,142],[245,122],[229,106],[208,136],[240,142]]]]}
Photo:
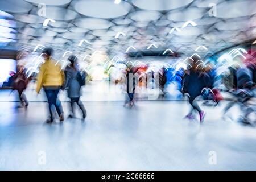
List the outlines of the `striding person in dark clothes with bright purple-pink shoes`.
{"type": "Polygon", "coordinates": [[[192,110],[189,112],[188,115],[186,115],[185,118],[188,119],[194,119],[193,111],[198,111],[200,116],[200,122],[204,121],[205,112],[201,110],[197,102],[195,101],[195,98],[197,96],[201,95],[201,91],[203,88],[207,87],[206,80],[207,76],[205,73],[200,69],[200,67],[197,67],[195,64],[196,61],[199,60],[197,56],[192,57],[193,61],[191,61],[191,68],[185,72],[183,77],[183,87],[182,87],[182,93],[188,93],[189,94],[189,104],[192,106],[192,110]]]}

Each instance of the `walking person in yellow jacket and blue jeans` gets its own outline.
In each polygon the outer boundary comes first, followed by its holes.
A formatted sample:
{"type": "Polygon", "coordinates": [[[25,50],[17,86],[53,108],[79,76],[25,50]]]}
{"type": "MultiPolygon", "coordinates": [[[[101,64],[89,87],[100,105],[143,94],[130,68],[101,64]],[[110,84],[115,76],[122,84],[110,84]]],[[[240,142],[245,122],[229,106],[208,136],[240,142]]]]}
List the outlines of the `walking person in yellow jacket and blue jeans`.
{"type": "Polygon", "coordinates": [[[54,119],[54,114],[51,110],[52,106],[55,106],[60,121],[64,121],[63,109],[61,102],[58,99],[59,91],[64,82],[64,74],[63,71],[61,71],[59,65],[55,65],[56,62],[51,59],[51,55],[53,53],[52,48],[44,48],[42,53],[45,62],[41,65],[40,71],[38,73],[36,92],[39,93],[42,87],[46,92],[46,97],[49,104],[49,113],[51,115],[51,117],[47,119],[47,122],[52,123],[54,119]]]}

